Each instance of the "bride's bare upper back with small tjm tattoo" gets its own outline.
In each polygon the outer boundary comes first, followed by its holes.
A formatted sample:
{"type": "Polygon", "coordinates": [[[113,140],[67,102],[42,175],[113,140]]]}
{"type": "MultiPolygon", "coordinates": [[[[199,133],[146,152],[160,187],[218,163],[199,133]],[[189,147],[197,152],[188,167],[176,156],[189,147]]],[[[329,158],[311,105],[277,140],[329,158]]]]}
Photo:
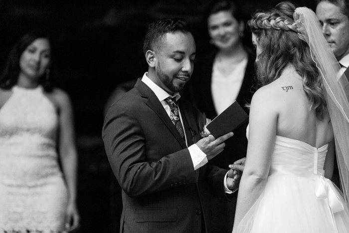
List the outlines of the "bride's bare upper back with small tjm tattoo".
{"type": "Polygon", "coordinates": [[[329,115],[326,113],[323,120],[317,118],[303,89],[303,79],[293,67],[286,68],[277,80],[264,88],[274,96],[269,99],[278,114],[277,135],[297,139],[316,148],[333,139],[329,115]]]}

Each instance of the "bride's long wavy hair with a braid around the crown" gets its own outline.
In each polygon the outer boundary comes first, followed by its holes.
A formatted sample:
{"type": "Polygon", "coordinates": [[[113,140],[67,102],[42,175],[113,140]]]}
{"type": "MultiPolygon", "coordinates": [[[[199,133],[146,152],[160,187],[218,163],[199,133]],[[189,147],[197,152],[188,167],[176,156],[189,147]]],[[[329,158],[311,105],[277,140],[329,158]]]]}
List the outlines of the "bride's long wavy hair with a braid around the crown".
{"type": "Polygon", "coordinates": [[[294,23],[295,9],[293,3],[283,1],[267,11],[256,12],[247,22],[262,50],[256,64],[257,78],[264,86],[278,79],[288,65],[294,66],[303,78],[310,108],[322,120],[327,112],[323,84],[309,45],[294,23]]]}

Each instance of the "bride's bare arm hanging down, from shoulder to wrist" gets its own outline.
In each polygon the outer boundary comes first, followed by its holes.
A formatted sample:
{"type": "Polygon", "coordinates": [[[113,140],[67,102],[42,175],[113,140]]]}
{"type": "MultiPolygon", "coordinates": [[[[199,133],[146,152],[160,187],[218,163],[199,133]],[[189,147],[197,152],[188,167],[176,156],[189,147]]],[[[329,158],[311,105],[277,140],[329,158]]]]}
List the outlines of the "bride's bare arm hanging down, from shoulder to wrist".
{"type": "Polygon", "coordinates": [[[239,186],[233,232],[262,193],[269,174],[278,119],[276,104],[273,103],[275,96],[270,92],[270,87],[265,86],[252,98],[247,157],[239,186]]]}

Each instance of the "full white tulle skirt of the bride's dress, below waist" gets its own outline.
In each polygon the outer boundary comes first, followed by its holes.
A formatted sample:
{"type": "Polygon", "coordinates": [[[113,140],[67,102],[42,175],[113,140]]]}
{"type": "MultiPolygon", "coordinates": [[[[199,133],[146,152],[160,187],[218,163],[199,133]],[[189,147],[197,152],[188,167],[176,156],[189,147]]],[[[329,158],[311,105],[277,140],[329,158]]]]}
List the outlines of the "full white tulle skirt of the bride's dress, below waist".
{"type": "MultiPolygon", "coordinates": [[[[330,182],[330,181],[328,181],[330,182]]],[[[238,226],[238,233],[349,233],[349,209],[334,213],[327,196],[316,194],[316,181],[296,176],[270,176],[265,190],[238,226]]],[[[336,211],[336,210],[335,210],[336,211]]]]}

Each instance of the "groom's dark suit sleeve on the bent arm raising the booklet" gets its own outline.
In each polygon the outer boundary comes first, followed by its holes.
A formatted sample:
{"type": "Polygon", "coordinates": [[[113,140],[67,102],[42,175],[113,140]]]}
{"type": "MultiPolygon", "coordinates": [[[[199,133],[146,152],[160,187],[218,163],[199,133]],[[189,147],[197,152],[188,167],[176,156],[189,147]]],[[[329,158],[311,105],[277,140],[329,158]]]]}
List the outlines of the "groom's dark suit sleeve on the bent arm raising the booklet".
{"type": "Polygon", "coordinates": [[[110,165],[124,192],[139,197],[169,189],[178,182],[195,183],[188,149],[167,154],[166,139],[154,141],[155,147],[149,146],[149,141],[155,139],[146,138],[135,115],[127,106],[113,105],[102,132],[110,165]]]}

